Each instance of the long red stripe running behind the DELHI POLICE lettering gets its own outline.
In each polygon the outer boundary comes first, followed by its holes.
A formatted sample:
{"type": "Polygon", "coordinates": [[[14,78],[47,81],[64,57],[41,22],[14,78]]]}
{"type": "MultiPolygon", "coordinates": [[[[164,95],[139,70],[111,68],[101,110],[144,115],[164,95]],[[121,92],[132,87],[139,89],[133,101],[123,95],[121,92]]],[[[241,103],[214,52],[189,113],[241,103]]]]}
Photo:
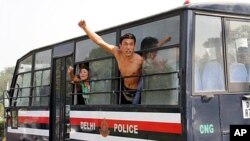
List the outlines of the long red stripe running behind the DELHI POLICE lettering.
{"type": "MultiPolygon", "coordinates": [[[[104,119],[89,119],[89,118],[70,118],[71,125],[80,125],[81,122],[95,123],[96,127],[100,127],[104,119]]],[[[129,121],[129,120],[112,120],[105,119],[109,128],[114,128],[115,124],[124,125],[137,125],[141,131],[162,132],[181,134],[182,127],[180,123],[167,123],[167,122],[151,122],[151,121],[129,121]]]]}

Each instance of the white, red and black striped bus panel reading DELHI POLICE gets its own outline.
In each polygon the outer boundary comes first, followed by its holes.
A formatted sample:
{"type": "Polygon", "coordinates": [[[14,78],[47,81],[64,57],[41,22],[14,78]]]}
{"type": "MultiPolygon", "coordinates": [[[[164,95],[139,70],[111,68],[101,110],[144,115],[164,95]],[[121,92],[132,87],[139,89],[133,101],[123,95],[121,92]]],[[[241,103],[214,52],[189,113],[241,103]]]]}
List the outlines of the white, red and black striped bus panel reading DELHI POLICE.
{"type": "MultiPolygon", "coordinates": [[[[97,110],[97,109],[96,109],[97,110]]],[[[179,112],[127,112],[71,110],[70,139],[93,141],[181,141],[179,112]]]]}

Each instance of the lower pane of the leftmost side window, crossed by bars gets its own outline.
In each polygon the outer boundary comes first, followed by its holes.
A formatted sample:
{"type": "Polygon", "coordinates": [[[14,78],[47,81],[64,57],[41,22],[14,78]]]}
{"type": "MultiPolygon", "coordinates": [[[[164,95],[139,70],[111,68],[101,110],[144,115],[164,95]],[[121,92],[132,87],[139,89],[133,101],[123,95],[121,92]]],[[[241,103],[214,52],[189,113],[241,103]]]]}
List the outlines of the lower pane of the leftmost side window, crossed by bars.
{"type": "Polygon", "coordinates": [[[28,106],[30,96],[31,73],[18,75],[17,83],[19,87],[15,89],[16,106],[28,106]]]}

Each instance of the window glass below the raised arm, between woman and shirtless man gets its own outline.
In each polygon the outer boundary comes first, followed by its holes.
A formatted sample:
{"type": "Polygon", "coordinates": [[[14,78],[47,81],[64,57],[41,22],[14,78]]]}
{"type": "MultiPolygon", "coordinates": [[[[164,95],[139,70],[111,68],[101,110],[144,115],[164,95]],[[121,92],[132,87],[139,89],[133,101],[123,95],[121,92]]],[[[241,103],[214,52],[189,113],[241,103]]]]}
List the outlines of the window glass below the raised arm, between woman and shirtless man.
{"type": "MultiPolygon", "coordinates": [[[[110,44],[116,44],[115,32],[102,35],[101,37],[110,44]]],[[[89,65],[91,90],[88,104],[111,104],[113,84],[117,85],[117,82],[111,79],[114,77],[116,70],[113,56],[87,39],[76,43],[75,61],[84,61],[84,63],[89,65]]]]}

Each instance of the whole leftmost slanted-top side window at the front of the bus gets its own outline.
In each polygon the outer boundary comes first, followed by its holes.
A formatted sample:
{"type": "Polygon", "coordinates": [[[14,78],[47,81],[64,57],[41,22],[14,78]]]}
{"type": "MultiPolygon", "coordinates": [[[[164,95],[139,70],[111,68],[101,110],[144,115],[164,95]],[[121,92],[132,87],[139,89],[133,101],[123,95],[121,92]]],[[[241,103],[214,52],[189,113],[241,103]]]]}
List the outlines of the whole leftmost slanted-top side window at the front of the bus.
{"type": "Polygon", "coordinates": [[[23,61],[19,63],[16,87],[14,92],[14,99],[16,99],[16,106],[29,106],[31,69],[32,69],[32,56],[25,58],[23,61]]]}

